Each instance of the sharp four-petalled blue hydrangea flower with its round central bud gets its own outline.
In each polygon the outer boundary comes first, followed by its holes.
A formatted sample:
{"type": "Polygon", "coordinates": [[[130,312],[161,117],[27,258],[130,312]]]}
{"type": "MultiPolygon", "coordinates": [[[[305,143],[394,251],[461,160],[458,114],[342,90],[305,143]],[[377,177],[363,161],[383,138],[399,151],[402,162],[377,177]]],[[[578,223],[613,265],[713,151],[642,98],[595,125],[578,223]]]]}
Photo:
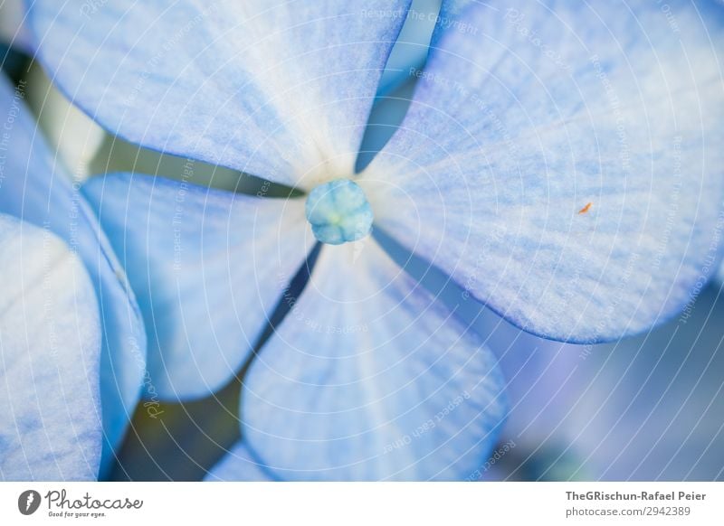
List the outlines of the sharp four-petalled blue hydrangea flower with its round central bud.
{"type": "Polygon", "coordinates": [[[69,97],[189,158],[181,182],[85,190],[162,395],[233,377],[324,243],[244,379],[223,478],[466,478],[487,455],[496,361],[365,237],[371,218],[466,295],[569,342],[660,323],[719,258],[721,7],[705,25],[684,2],[465,4],[443,4],[405,121],[355,174],[407,2],[33,2],[40,59],[69,97]],[[193,159],[306,195],[200,188],[193,159]]]}

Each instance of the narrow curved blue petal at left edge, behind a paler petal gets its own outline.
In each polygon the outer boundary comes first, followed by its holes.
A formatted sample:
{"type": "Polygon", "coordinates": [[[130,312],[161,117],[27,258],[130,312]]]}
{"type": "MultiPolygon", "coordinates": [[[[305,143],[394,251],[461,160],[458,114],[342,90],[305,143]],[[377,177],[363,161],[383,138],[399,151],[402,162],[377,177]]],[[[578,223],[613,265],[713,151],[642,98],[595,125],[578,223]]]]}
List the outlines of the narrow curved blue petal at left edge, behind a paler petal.
{"type": "Polygon", "coordinates": [[[146,362],[146,333],[123,269],[98,221],[53,157],[24,106],[24,89],[0,80],[0,108],[6,116],[0,164],[0,212],[51,230],[85,264],[100,301],[103,327],[101,400],[104,471],[112,460],[138,403],[146,362]]]}

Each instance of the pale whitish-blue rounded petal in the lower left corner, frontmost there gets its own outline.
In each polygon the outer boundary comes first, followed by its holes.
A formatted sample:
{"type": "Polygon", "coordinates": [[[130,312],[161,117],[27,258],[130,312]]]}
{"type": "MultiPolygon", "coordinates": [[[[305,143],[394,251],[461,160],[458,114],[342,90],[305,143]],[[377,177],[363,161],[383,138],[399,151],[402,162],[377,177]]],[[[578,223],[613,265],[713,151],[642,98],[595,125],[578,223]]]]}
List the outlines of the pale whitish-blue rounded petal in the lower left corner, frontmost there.
{"type": "Polygon", "coordinates": [[[94,480],[100,320],[66,245],[0,214],[0,479],[94,480]]]}

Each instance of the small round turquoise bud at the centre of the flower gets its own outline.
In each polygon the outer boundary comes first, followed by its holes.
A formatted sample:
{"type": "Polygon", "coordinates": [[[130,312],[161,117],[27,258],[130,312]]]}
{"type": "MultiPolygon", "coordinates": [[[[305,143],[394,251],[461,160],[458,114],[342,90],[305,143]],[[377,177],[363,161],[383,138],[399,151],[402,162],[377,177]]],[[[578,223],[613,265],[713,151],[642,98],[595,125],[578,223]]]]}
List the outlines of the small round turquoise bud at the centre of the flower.
{"type": "Polygon", "coordinates": [[[305,206],[314,237],[322,243],[341,245],[361,240],[372,231],[372,208],[357,183],[336,179],[319,184],[305,206]]]}

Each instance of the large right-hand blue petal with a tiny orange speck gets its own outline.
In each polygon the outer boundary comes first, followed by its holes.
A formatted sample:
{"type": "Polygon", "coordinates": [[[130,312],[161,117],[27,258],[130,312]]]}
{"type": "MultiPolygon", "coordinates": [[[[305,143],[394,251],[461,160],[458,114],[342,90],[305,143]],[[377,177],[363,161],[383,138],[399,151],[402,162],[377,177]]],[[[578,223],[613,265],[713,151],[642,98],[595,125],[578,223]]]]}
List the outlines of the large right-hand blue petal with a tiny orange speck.
{"type": "Polygon", "coordinates": [[[691,4],[546,4],[446,31],[358,183],[512,323],[597,342],[671,317],[719,260],[724,35],[691,4]]]}

